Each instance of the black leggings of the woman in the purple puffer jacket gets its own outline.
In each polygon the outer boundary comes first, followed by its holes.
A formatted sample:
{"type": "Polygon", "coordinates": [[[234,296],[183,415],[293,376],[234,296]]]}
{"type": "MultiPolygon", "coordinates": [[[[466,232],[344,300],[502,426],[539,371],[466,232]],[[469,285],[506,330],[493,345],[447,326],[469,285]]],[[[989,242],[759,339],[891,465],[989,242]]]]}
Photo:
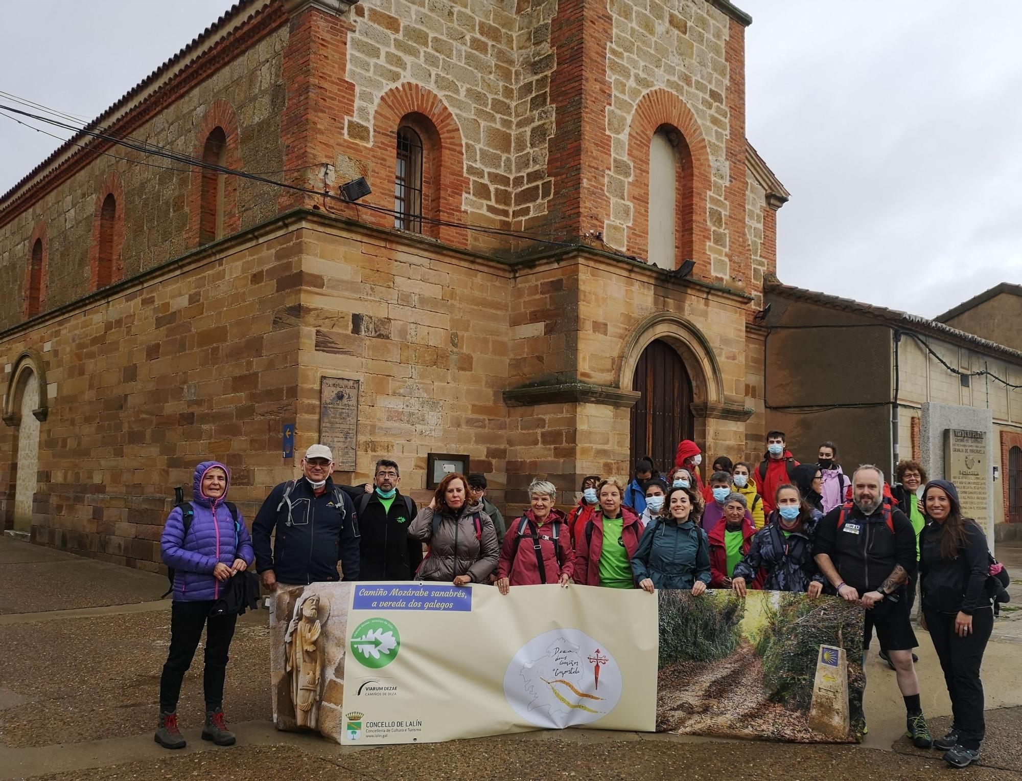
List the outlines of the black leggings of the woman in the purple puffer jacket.
{"type": "Polygon", "coordinates": [[[171,650],[159,677],[159,709],[173,714],[181,696],[181,682],[191,665],[198,641],[205,631],[205,669],[202,672],[202,691],[205,709],[216,710],[224,705],[224,679],[227,676],[227,651],[234,637],[236,614],[210,615],[213,600],[203,602],[174,602],[171,606],[171,650]]]}

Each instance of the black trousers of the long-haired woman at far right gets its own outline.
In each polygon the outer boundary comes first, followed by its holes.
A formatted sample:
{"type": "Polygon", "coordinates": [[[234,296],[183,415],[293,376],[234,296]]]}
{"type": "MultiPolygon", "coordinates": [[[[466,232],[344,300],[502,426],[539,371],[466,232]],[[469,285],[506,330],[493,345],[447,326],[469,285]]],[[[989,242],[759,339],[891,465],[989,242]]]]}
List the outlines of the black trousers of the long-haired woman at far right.
{"type": "Polygon", "coordinates": [[[979,668],[983,663],[986,641],[993,631],[993,610],[989,607],[976,610],[972,615],[972,632],[965,637],[955,633],[958,613],[940,613],[924,608],[923,614],[940,659],[940,669],[944,672],[944,682],[951,698],[954,725],[960,733],[959,743],[978,750],[986,733],[979,668]]]}

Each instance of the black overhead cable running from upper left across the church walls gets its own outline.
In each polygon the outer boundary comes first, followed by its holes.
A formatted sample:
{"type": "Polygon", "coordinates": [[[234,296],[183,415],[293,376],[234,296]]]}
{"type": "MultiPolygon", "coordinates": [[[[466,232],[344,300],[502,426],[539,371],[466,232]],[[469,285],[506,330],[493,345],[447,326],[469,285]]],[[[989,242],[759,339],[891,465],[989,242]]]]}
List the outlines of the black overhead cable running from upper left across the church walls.
{"type": "MultiPolygon", "coordinates": [[[[173,150],[169,150],[169,149],[166,149],[164,147],[158,147],[158,146],[155,146],[155,145],[152,145],[152,144],[148,144],[147,142],[139,141],[137,139],[131,139],[130,137],[127,137],[127,136],[118,137],[118,136],[111,135],[111,134],[106,133],[106,132],[101,132],[99,130],[92,129],[90,127],[75,127],[73,125],[68,125],[65,122],[54,120],[54,119],[51,119],[51,118],[48,118],[48,117],[43,117],[43,116],[40,116],[38,113],[32,113],[31,111],[26,111],[26,110],[22,110],[20,108],[15,108],[14,106],[4,105],[2,103],[0,103],[0,109],[2,109],[3,111],[10,111],[12,113],[19,114],[21,117],[27,117],[27,118],[30,118],[30,119],[33,119],[33,120],[37,120],[39,122],[46,123],[47,125],[52,125],[54,127],[62,128],[64,130],[71,130],[71,131],[73,131],[73,132],[75,132],[77,134],[83,134],[83,135],[91,136],[92,138],[95,138],[95,139],[99,139],[99,140],[103,140],[103,141],[108,141],[109,143],[118,144],[120,146],[125,146],[125,147],[127,147],[129,149],[133,149],[133,150],[141,152],[143,154],[151,154],[151,155],[154,155],[154,156],[164,157],[165,159],[170,159],[170,160],[174,160],[176,163],[181,163],[183,165],[190,166],[192,168],[200,168],[200,169],[203,169],[203,170],[206,170],[206,171],[215,171],[217,173],[225,174],[227,176],[237,176],[237,177],[240,177],[242,179],[247,179],[249,181],[259,182],[259,183],[262,183],[262,184],[271,184],[271,185],[274,185],[276,187],[283,187],[285,189],[292,190],[292,191],[295,191],[295,192],[301,192],[301,193],[305,193],[305,194],[308,194],[308,195],[317,195],[317,196],[323,197],[323,198],[330,198],[331,200],[336,200],[336,201],[339,201],[341,203],[354,203],[354,201],[350,201],[346,198],[342,198],[339,195],[334,195],[334,194],[332,194],[332,193],[330,193],[330,192],[328,192],[326,190],[314,190],[314,189],[311,189],[309,187],[301,187],[299,185],[288,184],[286,182],[277,182],[277,181],[275,181],[273,179],[267,179],[266,177],[261,176],[259,174],[250,174],[250,173],[247,173],[247,172],[244,172],[244,171],[237,171],[235,169],[231,169],[231,168],[228,168],[226,166],[220,166],[220,165],[213,164],[213,163],[205,163],[204,160],[200,160],[200,159],[198,159],[196,157],[192,157],[191,155],[184,154],[182,152],[176,152],[176,151],[173,151],[173,150]]],[[[12,117],[8,117],[8,119],[11,119],[11,120],[14,120],[15,122],[17,122],[17,120],[15,120],[12,117]]],[[[21,124],[24,124],[24,123],[21,123],[21,124]]],[[[27,126],[27,127],[32,127],[32,126],[27,126]]],[[[32,129],[33,130],[38,130],[37,128],[32,128],[32,129]]],[[[115,155],[111,155],[111,156],[115,156],[115,155]]],[[[119,158],[119,159],[125,159],[128,163],[137,163],[137,160],[131,160],[131,159],[127,159],[127,158],[123,158],[123,157],[119,158]]],[[[142,164],[142,165],[146,165],[146,164],[142,164]]],[[[323,165],[323,164],[319,164],[319,165],[323,165]]],[[[279,172],[277,172],[277,173],[279,173],[279,172]]],[[[361,208],[361,209],[368,209],[368,210],[370,210],[372,212],[378,212],[380,214],[389,215],[389,216],[392,216],[392,217],[404,217],[405,216],[404,213],[402,213],[402,212],[398,212],[398,211],[392,210],[392,209],[386,209],[385,206],[376,206],[376,205],[372,205],[372,204],[369,204],[369,203],[356,203],[355,205],[357,205],[358,208],[361,208]]],[[[420,218],[417,217],[416,219],[420,219],[420,218]]],[[[429,223],[431,225],[437,225],[437,226],[442,226],[442,227],[461,228],[461,229],[464,229],[464,230],[475,231],[475,232],[478,232],[478,233],[486,233],[486,234],[491,234],[491,235],[500,235],[500,236],[505,236],[505,237],[509,237],[509,238],[518,238],[518,239],[522,239],[522,240],[526,240],[526,241],[535,241],[535,242],[540,242],[540,243],[544,243],[544,244],[550,244],[550,245],[553,245],[553,246],[563,246],[563,247],[570,247],[570,248],[578,246],[577,242],[569,243],[569,242],[565,242],[565,241],[554,241],[554,240],[551,240],[551,239],[542,238],[542,237],[539,237],[539,236],[536,236],[536,235],[531,235],[531,234],[528,234],[528,233],[523,233],[523,232],[518,232],[518,231],[509,231],[509,230],[504,230],[504,229],[501,229],[501,228],[491,228],[491,227],[485,227],[485,226],[480,226],[480,225],[471,225],[469,223],[458,223],[458,222],[453,222],[453,221],[449,221],[449,220],[440,220],[438,218],[426,217],[425,215],[423,215],[421,217],[421,220],[422,220],[422,222],[426,222],[426,223],[429,223]]]]}

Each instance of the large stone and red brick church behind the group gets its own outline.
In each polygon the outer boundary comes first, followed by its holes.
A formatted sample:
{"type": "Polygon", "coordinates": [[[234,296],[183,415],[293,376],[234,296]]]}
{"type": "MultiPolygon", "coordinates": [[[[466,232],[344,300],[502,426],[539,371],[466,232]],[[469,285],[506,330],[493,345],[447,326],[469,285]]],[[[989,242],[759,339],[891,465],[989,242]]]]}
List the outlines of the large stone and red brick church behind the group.
{"type": "Polygon", "coordinates": [[[788,193],[745,137],[750,21],[236,4],[90,126],[178,159],[80,134],[0,195],[4,527],[155,568],[196,462],[250,519],[328,420],[335,479],[391,456],[422,500],[467,456],[511,511],[685,438],[758,457],[788,193]]]}

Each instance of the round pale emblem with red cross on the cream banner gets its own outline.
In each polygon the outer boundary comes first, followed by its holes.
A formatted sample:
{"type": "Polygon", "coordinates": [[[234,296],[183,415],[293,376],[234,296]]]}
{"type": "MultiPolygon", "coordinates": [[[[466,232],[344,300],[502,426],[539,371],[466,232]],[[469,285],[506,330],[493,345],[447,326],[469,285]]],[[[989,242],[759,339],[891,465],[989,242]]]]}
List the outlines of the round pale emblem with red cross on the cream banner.
{"type": "Polygon", "coordinates": [[[552,630],[532,638],[504,674],[508,704],[547,729],[602,719],[620,699],[621,686],[617,662],[601,650],[601,643],[576,629],[552,630]]]}

